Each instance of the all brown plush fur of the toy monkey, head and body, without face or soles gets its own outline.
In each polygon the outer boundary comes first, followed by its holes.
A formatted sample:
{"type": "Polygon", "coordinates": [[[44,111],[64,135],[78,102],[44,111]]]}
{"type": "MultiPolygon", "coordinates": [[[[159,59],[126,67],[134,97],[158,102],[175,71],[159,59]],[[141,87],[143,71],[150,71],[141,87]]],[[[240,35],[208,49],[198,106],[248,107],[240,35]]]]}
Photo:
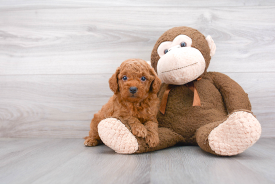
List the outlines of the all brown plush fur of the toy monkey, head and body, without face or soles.
{"type": "MultiPolygon", "coordinates": [[[[171,144],[160,143],[155,149],[171,146],[184,140],[185,144],[198,144],[203,150],[216,154],[208,145],[208,135],[211,130],[223,122],[228,113],[239,110],[251,112],[251,104],[247,94],[234,80],[219,72],[206,71],[211,58],[210,49],[205,36],[196,29],[182,26],[164,32],[156,41],[151,53],[151,64],[155,70],[159,60],[157,47],[163,41],[172,41],[179,34],[191,37],[191,47],[197,48],[205,59],[206,66],[201,75],[202,78],[193,81],[201,106],[192,106],[194,93],[186,85],[174,85],[168,94],[165,114],[158,111],[157,121],[160,142],[170,141],[170,139],[175,141],[171,141],[171,144]],[[171,138],[173,133],[181,135],[183,139],[171,138]]],[[[158,92],[160,101],[167,85],[162,83],[160,86],[158,92]]],[[[139,138],[138,142],[140,145],[137,152],[152,150],[147,149],[139,138]]]]}

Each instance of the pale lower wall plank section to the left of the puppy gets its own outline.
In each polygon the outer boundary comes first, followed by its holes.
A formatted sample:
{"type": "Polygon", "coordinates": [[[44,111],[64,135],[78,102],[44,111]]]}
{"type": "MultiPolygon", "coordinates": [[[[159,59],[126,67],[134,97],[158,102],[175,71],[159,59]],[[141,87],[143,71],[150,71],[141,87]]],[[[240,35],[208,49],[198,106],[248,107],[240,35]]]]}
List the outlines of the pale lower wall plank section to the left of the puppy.
{"type": "Polygon", "coordinates": [[[93,114],[112,95],[110,76],[0,76],[0,136],[86,136],[93,114]]]}

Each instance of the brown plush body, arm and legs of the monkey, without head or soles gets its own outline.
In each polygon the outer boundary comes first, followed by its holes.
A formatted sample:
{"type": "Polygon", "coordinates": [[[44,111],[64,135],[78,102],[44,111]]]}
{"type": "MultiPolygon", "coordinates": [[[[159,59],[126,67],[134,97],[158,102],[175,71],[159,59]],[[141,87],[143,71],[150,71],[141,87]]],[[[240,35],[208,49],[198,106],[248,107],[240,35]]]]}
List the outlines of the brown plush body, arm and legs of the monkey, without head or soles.
{"type": "MultiPolygon", "coordinates": [[[[175,85],[169,92],[165,114],[163,115],[160,111],[157,113],[159,145],[148,148],[144,139],[136,137],[139,143],[136,153],[158,150],[182,142],[199,145],[203,150],[216,154],[208,145],[210,131],[228,117],[229,110],[231,113],[234,111],[251,113],[247,94],[228,76],[218,72],[207,72],[194,83],[201,106],[192,106],[194,93],[187,86],[175,85]],[[212,77],[213,73],[215,77],[212,77]],[[223,78],[224,82],[215,83],[213,78],[216,77],[223,78]],[[216,86],[219,86],[221,91],[216,86]],[[231,98],[235,100],[229,100],[231,98]]],[[[160,100],[167,85],[162,83],[160,87],[158,93],[160,100]]]]}

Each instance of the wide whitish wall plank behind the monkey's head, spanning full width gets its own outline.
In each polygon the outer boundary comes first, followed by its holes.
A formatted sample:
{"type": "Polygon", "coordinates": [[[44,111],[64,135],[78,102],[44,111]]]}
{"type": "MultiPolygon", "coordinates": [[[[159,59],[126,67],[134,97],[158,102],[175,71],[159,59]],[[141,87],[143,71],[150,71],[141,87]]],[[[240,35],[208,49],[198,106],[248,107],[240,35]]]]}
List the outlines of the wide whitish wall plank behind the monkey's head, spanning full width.
{"type": "Polygon", "coordinates": [[[0,75],[113,73],[182,25],[214,39],[209,71],[275,71],[275,6],[27,7],[0,11],[0,75]]]}

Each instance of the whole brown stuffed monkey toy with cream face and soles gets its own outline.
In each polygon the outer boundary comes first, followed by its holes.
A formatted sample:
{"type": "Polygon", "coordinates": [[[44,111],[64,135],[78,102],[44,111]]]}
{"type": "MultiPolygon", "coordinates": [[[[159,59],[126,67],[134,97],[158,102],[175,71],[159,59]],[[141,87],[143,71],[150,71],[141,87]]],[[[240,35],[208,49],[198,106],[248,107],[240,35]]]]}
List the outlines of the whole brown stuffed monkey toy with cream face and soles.
{"type": "Polygon", "coordinates": [[[142,153],[175,144],[198,145],[216,155],[235,155],[253,145],[261,126],[247,93],[219,72],[207,72],[215,53],[211,36],[174,27],[156,41],[151,65],[162,80],[157,113],[159,144],[149,147],[131,133],[129,122],[106,118],[98,124],[101,140],[118,153],[142,153]],[[104,132],[104,133],[102,133],[104,132]],[[109,136],[105,136],[109,132],[109,136]]]}

